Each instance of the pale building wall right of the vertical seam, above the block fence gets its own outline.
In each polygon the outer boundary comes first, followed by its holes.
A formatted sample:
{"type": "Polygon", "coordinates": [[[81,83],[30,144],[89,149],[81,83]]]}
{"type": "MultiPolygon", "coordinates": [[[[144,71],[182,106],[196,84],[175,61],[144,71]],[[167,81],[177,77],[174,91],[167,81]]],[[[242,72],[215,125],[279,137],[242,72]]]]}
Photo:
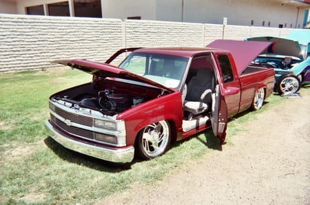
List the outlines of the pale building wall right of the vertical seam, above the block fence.
{"type": "MultiPolygon", "coordinates": [[[[297,8],[294,6],[282,6],[278,1],[267,0],[184,0],[185,1],[185,21],[199,23],[223,23],[223,17],[227,17],[230,25],[251,25],[265,27],[271,22],[271,27],[278,27],[279,24],[290,28],[296,25],[297,8]]],[[[304,9],[300,9],[298,24],[302,28],[304,9]]],[[[298,25],[297,25],[298,28],[298,25]]]]}

